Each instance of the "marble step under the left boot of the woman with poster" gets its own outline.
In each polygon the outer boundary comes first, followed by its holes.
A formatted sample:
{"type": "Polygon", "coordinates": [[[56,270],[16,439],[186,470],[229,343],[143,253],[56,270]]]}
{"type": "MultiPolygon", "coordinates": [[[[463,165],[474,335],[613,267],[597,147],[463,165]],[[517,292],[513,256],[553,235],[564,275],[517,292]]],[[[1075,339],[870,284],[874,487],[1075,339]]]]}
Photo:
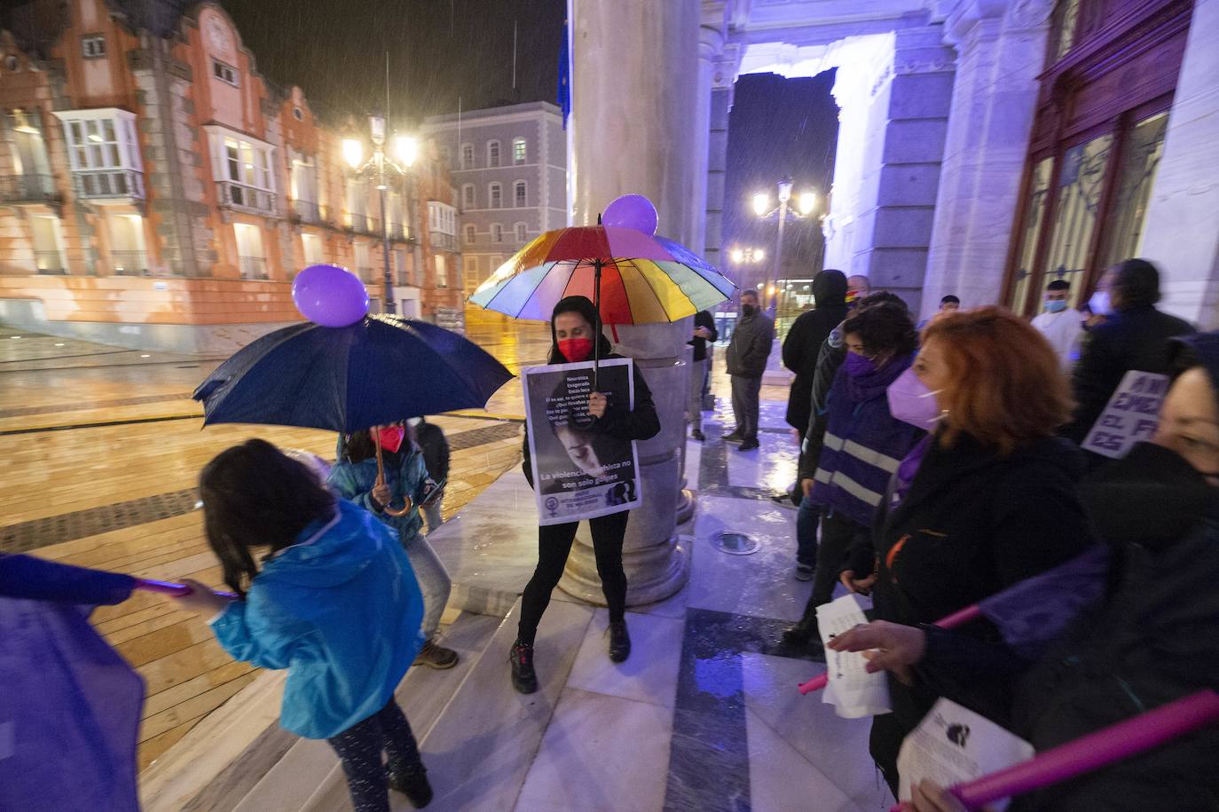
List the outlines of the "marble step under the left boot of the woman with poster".
{"type": "MultiPolygon", "coordinates": [[[[584,604],[551,601],[538,630],[540,686],[536,694],[523,696],[512,689],[508,677],[519,608],[518,601],[436,723],[421,738],[423,762],[435,790],[429,812],[511,812],[516,807],[594,612],[584,604]]],[[[315,785],[317,789],[308,801],[293,808],[351,810],[346,782],[336,763],[315,785]]],[[[395,792],[390,794],[390,801],[395,812],[411,808],[395,792]]]]}

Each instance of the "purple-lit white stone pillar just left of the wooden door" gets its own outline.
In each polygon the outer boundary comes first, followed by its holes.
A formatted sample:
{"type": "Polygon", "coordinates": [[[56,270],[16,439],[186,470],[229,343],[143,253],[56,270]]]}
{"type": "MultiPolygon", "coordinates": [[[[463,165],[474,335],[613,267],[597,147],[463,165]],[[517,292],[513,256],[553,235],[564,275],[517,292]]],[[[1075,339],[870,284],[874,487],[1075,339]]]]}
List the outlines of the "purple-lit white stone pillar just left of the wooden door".
{"type": "Polygon", "coordinates": [[[957,82],[935,227],[924,283],[923,316],[946,294],[967,307],[997,301],[1020,207],[1020,177],[1029,151],[1046,57],[1052,0],[1018,0],[1011,7],[945,22],[957,50],[957,82]]]}

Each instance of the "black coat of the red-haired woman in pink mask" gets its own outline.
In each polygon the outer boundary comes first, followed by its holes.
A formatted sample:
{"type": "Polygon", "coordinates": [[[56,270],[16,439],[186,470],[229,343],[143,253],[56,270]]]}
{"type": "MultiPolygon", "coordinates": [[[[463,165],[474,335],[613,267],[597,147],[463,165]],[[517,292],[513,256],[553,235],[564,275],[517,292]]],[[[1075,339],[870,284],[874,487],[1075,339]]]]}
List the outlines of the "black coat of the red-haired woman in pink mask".
{"type": "MultiPolygon", "coordinates": [[[[1079,499],[1080,452],[1048,438],[998,457],[968,435],[933,441],[906,499],[878,517],[874,545],[852,547],[844,569],[873,572],[874,617],[934,623],[984,597],[1065,563],[1093,543],[1079,499]]],[[[969,633],[998,641],[984,621],[969,633]]],[[[1009,690],[998,680],[996,691],[1009,690]]],[[[939,694],[890,680],[895,721],[908,733],[939,694]]],[[[1009,702],[1009,696],[996,700],[1009,702]]]]}

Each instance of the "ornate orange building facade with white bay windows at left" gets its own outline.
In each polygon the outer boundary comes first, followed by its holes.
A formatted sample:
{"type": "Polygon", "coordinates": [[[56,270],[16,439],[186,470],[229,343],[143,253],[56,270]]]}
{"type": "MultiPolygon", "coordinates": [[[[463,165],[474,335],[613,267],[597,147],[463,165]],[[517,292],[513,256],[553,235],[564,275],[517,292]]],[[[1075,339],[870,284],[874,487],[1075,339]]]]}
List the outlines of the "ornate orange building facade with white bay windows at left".
{"type": "MultiPolygon", "coordinates": [[[[380,310],[375,184],[258,74],[212,2],[73,0],[0,33],[0,321],[141,349],[224,351],[297,321],[291,278],[358,273],[380,310]]],[[[366,149],[367,154],[367,149],[366,149]]],[[[399,312],[461,313],[457,212],[434,144],[390,183],[399,312]]]]}

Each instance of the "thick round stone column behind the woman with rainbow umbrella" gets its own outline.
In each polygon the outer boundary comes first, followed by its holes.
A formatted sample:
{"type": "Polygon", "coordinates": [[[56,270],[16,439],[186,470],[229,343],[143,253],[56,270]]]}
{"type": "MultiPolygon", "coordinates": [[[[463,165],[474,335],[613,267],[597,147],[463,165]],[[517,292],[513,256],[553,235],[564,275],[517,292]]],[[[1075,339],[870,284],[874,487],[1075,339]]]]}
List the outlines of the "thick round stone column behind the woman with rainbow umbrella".
{"type": "MultiPolygon", "coordinates": [[[[698,13],[697,0],[569,0],[575,224],[595,223],[614,198],[638,193],[656,204],[661,234],[691,244],[698,13]]],[[[630,605],[668,597],[689,577],[689,555],[675,535],[689,333],[689,319],[618,328],[618,349],[635,358],[661,419],[661,433],[639,444],[644,505],[631,512],[623,550],[630,605]]],[[[603,601],[586,524],[560,586],[603,601]]]]}

